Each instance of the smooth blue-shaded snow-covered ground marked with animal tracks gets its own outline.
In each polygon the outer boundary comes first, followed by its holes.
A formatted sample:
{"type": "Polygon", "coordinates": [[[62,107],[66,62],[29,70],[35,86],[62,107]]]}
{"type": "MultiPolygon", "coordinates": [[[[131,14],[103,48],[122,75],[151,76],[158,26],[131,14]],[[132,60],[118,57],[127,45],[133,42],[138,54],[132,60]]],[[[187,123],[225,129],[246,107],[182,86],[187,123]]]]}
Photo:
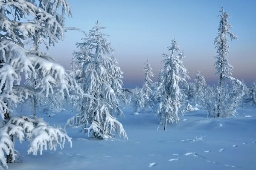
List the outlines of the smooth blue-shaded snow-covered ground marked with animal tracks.
{"type": "MultiPolygon", "coordinates": [[[[202,110],[187,112],[177,124],[158,128],[151,111],[119,117],[129,140],[95,140],[67,129],[73,147],[27,154],[28,144],[16,141],[17,163],[9,170],[256,170],[256,107],[238,110],[236,118],[207,118],[202,110]]],[[[63,111],[44,116],[50,125],[61,125],[73,115],[63,111]]]]}

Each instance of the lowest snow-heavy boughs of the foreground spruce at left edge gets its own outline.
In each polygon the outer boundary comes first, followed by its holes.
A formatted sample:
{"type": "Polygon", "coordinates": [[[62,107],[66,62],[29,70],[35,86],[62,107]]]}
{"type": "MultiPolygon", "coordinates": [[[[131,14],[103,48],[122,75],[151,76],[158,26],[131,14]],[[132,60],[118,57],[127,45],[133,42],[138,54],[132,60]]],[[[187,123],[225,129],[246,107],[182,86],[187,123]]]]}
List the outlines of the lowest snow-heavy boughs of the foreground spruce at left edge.
{"type": "Polygon", "coordinates": [[[20,116],[12,117],[9,121],[3,122],[0,127],[0,169],[8,168],[5,155],[12,153],[11,162],[15,161],[15,149],[12,138],[21,142],[29,141],[28,153],[42,155],[44,150],[56,150],[59,146],[64,147],[66,140],[70,142],[71,138],[61,127],[52,127],[41,118],[20,116]]]}

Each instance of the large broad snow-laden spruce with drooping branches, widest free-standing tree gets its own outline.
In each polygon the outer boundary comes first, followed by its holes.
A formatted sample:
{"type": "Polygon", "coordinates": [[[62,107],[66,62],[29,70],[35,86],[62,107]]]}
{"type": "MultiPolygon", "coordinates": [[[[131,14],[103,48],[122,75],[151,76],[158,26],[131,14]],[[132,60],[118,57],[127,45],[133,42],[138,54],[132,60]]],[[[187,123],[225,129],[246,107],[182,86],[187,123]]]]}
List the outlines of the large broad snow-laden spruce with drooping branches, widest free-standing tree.
{"type": "Polygon", "coordinates": [[[122,124],[113,115],[114,112],[122,115],[119,108],[122,71],[116,61],[107,56],[113,48],[106,40],[106,34],[101,33],[103,28],[97,21],[96,26],[83,39],[84,42],[77,43],[79,51],[74,55],[83,62],[82,89],[85,96],[78,105],[79,113],[67,121],[66,127],[81,127],[81,131],[87,132],[88,136],[99,139],[112,138],[114,132],[127,138],[122,124]]]}

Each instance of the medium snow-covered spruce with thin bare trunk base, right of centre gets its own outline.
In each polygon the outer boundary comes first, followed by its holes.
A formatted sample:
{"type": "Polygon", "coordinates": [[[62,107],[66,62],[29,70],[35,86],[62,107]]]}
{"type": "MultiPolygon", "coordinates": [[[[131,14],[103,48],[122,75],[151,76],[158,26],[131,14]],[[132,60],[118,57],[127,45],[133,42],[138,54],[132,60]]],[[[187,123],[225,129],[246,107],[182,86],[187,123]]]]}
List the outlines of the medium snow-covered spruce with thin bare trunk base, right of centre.
{"type": "Polygon", "coordinates": [[[183,94],[181,93],[180,85],[188,84],[186,79],[189,79],[187,70],[183,65],[182,59],[184,57],[183,52],[175,55],[175,52],[180,50],[177,41],[172,40],[172,46],[168,47],[169,51],[172,51],[171,55],[163,54],[166,59],[163,60],[163,85],[160,86],[160,102],[157,105],[156,113],[160,117],[160,125],[164,125],[164,130],[167,128],[167,122],[177,123],[179,122],[178,113],[182,106],[181,100],[183,94]]]}

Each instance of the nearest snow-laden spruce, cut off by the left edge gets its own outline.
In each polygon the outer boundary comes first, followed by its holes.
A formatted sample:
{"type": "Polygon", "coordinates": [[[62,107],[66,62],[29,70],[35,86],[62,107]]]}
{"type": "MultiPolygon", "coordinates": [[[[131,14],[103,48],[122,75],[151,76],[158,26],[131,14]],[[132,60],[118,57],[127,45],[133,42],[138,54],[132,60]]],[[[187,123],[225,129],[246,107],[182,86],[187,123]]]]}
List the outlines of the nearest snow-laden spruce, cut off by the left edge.
{"type": "MultiPolygon", "coordinates": [[[[26,51],[23,42],[42,37],[54,45],[64,38],[64,14],[71,14],[66,0],[0,1],[0,168],[15,161],[13,139],[29,139],[29,152],[63,146],[70,138],[58,127],[50,127],[36,117],[14,117],[12,109],[35,93],[45,96],[58,91],[69,95],[79,89],[64,68],[48,61],[43,53],[26,51]],[[59,8],[61,14],[58,14],[59,8]],[[26,22],[32,17],[37,22],[26,22]],[[35,88],[20,85],[22,78],[38,79],[35,88]],[[16,121],[17,120],[17,121],[16,121]],[[5,157],[7,155],[7,158],[5,157]]],[[[71,142],[71,141],[70,141],[71,142]]]]}

